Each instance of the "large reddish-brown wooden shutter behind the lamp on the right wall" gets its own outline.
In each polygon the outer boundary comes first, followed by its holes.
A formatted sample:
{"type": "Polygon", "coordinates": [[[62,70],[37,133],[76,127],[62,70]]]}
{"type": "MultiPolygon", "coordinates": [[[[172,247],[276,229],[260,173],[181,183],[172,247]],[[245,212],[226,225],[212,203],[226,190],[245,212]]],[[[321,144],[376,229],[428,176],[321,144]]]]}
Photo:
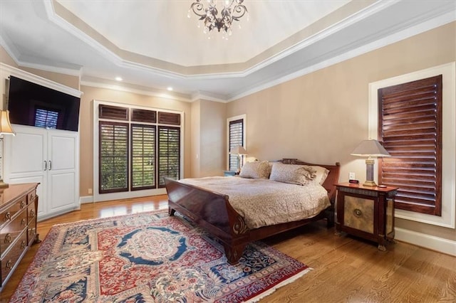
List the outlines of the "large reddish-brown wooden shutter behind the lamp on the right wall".
{"type": "Polygon", "coordinates": [[[395,207],[441,216],[442,75],[378,90],[378,137],[390,153],[379,182],[398,186],[395,207]]]}

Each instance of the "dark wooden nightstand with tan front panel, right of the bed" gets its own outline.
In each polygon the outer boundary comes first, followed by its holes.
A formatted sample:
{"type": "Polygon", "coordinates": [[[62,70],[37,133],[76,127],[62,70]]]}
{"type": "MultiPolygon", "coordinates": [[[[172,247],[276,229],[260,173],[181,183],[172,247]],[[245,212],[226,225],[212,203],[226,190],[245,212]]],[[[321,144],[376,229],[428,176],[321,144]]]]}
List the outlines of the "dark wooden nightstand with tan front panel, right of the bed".
{"type": "Polygon", "coordinates": [[[394,243],[394,197],[398,187],[369,187],[361,184],[336,184],[336,235],[350,233],[378,243],[394,243]]]}

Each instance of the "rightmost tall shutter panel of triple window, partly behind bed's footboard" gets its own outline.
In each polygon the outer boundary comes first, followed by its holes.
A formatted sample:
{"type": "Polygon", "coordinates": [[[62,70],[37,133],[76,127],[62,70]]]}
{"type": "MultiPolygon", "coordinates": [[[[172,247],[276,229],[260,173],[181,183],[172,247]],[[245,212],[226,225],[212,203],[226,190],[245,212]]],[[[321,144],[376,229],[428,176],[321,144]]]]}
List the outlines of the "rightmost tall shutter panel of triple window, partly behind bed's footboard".
{"type": "Polygon", "coordinates": [[[158,127],[158,187],[180,178],[180,127],[158,127]]]}

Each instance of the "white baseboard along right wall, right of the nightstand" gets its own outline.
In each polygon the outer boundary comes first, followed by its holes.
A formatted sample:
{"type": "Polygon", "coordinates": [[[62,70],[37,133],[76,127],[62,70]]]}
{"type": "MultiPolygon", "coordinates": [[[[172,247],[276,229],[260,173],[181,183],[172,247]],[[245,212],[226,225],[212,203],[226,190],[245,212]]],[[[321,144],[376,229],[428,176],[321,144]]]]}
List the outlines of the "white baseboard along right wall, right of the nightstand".
{"type": "Polygon", "coordinates": [[[453,240],[426,235],[425,233],[417,233],[416,231],[406,230],[404,228],[395,228],[394,238],[422,248],[456,256],[456,241],[453,240]]]}

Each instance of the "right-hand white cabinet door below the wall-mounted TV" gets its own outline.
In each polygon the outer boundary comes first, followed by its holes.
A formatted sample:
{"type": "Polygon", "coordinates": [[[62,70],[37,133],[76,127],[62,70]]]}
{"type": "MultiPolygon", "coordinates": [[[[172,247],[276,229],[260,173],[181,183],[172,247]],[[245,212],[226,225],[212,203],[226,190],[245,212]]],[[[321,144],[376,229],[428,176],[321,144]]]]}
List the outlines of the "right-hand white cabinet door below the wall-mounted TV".
{"type": "Polygon", "coordinates": [[[48,131],[48,212],[78,206],[78,135],[48,131]]]}

